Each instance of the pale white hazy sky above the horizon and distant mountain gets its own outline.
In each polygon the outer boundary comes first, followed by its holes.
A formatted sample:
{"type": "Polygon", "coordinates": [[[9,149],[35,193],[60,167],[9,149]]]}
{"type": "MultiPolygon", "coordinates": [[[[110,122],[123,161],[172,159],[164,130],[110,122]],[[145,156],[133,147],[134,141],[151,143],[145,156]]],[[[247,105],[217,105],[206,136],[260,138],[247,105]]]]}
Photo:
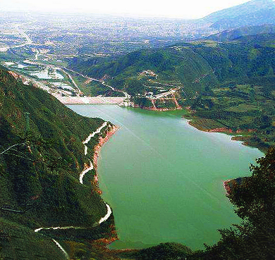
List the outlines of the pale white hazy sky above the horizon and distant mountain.
{"type": "Polygon", "coordinates": [[[202,18],[248,0],[0,0],[0,11],[114,13],[133,16],[202,18]]]}

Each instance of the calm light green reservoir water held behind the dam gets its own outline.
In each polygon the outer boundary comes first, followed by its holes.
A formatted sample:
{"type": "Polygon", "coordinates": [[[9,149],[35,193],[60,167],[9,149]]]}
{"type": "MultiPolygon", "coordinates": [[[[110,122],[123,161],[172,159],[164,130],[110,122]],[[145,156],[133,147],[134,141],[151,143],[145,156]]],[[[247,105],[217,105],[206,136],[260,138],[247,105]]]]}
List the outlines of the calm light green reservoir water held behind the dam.
{"type": "Polygon", "coordinates": [[[263,156],[258,149],[191,127],[183,111],[69,107],[121,126],[102,147],[98,167],[121,240],[112,247],[181,242],[203,249],[219,240],[218,229],[240,222],[223,182],[249,175],[250,163],[263,156]]]}

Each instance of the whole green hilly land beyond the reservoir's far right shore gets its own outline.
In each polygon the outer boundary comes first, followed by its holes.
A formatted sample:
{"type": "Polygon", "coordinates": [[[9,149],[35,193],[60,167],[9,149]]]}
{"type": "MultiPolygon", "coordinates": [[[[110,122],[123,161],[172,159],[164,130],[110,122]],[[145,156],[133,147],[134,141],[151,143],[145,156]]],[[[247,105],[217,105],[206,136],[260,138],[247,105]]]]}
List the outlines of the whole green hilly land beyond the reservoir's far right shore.
{"type": "MultiPolygon", "coordinates": [[[[255,30],[265,29],[251,28],[255,30]]],[[[272,32],[273,27],[268,25],[267,30],[272,32]]],[[[202,118],[193,118],[193,125],[201,130],[252,131],[245,143],[266,151],[275,144],[274,40],[275,34],[262,33],[229,42],[180,42],[93,66],[86,67],[88,60],[71,66],[94,78],[104,77],[141,107],[190,107],[193,116],[202,118]]]]}

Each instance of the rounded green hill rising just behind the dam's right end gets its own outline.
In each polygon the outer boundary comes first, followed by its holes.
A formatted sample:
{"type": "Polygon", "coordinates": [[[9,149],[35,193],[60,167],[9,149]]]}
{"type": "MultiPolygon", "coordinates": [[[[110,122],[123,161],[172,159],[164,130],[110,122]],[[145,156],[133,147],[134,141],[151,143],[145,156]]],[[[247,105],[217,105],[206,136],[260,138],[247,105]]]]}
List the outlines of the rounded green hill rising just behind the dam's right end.
{"type": "Polygon", "coordinates": [[[71,68],[94,78],[105,76],[111,86],[126,92],[130,90],[127,89],[128,82],[138,80],[140,87],[135,92],[130,91],[130,94],[142,93],[146,87],[169,89],[182,84],[186,92],[193,94],[202,91],[207,84],[217,83],[209,63],[192,47],[178,44],[163,49],[134,51],[112,61],[99,61],[92,66],[87,66],[87,61],[72,62],[71,68]],[[154,75],[142,75],[145,70],[152,71],[154,75]]]}

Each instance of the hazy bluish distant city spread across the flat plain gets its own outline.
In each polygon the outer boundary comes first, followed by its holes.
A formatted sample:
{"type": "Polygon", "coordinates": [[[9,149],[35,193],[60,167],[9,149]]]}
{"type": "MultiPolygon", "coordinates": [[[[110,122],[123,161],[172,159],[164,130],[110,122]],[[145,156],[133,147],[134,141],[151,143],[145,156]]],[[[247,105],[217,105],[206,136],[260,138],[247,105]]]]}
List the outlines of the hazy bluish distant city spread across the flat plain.
{"type": "Polygon", "coordinates": [[[32,42],[25,51],[41,49],[49,60],[76,55],[114,56],[213,33],[207,27],[201,20],[4,13],[0,18],[0,48],[23,44],[27,35],[32,42]]]}

